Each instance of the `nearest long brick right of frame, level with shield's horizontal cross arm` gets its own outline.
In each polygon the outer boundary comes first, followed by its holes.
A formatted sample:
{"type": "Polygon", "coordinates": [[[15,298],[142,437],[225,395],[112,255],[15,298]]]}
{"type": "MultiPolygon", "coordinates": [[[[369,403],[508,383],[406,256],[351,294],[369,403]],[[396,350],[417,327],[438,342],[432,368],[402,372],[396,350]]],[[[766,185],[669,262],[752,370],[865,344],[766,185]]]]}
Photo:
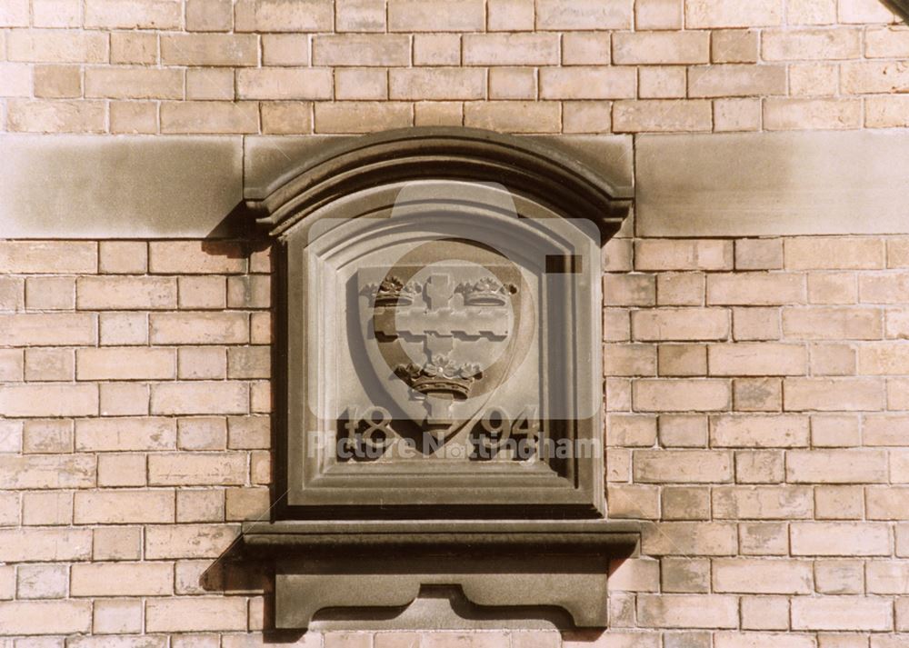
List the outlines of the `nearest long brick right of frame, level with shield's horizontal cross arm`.
{"type": "Polygon", "coordinates": [[[729,313],[722,308],[660,308],[634,311],[635,340],[722,340],[729,335],[729,313]]]}

